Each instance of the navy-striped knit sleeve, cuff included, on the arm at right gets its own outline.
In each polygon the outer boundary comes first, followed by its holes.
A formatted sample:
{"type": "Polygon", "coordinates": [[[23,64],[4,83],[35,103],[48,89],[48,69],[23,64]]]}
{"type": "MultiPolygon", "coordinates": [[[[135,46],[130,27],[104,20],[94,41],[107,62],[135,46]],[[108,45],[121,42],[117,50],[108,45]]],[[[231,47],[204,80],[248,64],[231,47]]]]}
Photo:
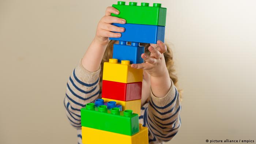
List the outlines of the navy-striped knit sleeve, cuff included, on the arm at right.
{"type": "Polygon", "coordinates": [[[150,101],[142,107],[140,117],[143,126],[148,127],[150,144],[170,141],[177,134],[181,126],[180,111],[180,98],[173,82],[163,98],[157,98],[151,90],[150,101]]]}

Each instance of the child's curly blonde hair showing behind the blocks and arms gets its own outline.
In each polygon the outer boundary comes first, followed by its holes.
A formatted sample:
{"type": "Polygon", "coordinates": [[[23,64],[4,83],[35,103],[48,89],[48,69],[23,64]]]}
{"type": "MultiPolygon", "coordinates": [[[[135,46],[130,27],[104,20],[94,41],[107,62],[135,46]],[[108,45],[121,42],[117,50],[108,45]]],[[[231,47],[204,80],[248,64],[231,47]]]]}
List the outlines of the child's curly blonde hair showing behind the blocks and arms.
{"type": "MultiPolygon", "coordinates": [[[[113,56],[113,46],[114,43],[116,43],[116,41],[111,40],[108,43],[108,46],[105,50],[105,53],[103,55],[102,61],[101,61],[101,72],[99,73],[99,78],[102,81],[102,75],[103,75],[103,63],[106,61],[109,61],[109,58],[112,58],[113,56]]],[[[128,44],[130,44],[130,42],[128,42],[128,44]]],[[[150,46],[150,43],[140,43],[140,46],[144,46],[144,50],[145,50],[145,54],[150,55],[150,52],[148,50],[148,47],[150,46]]],[[[182,90],[180,90],[178,88],[178,77],[175,74],[175,69],[174,69],[174,61],[173,61],[173,53],[172,50],[170,49],[170,47],[168,45],[166,45],[167,47],[167,51],[165,53],[163,53],[163,56],[165,57],[165,63],[166,63],[166,67],[168,69],[169,75],[170,75],[170,79],[172,79],[174,85],[177,87],[178,92],[179,92],[179,96],[181,99],[181,92],[182,90]]],[[[101,82],[100,81],[100,82],[101,82]]],[[[100,89],[101,89],[101,84],[100,84],[100,89]]]]}

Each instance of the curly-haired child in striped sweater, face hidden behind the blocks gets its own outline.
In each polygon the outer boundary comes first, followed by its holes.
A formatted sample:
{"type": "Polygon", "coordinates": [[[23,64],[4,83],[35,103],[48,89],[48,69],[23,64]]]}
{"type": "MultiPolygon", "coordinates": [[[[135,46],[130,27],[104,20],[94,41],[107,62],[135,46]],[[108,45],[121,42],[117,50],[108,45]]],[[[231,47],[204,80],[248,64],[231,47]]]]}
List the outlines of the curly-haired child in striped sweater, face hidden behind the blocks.
{"type": "MultiPolygon", "coordinates": [[[[109,37],[121,37],[124,28],[111,23],[126,23],[124,19],[111,16],[119,14],[113,7],[99,21],[96,35],[74,69],[67,83],[64,99],[66,113],[71,125],[78,130],[78,143],[82,144],[80,109],[86,103],[101,98],[103,62],[109,61],[113,54],[113,44],[109,37]]],[[[144,63],[132,64],[132,68],[143,69],[142,107],[139,122],[148,127],[150,144],[159,144],[171,140],[180,128],[180,96],[177,77],[173,74],[172,52],[161,41],[157,44],[140,43],[145,47],[142,54],[144,63]]]]}

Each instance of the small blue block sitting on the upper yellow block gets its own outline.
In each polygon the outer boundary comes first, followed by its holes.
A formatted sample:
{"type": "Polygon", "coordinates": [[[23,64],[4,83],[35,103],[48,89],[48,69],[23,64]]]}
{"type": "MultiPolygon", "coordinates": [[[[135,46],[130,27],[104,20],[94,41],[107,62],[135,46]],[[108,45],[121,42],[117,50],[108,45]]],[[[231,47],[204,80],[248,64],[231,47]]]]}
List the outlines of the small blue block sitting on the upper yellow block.
{"type": "Polygon", "coordinates": [[[129,60],[130,64],[143,63],[141,54],[144,53],[144,46],[139,46],[139,43],[132,42],[131,45],[127,45],[127,42],[119,41],[118,44],[114,44],[113,58],[116,58],[118,62],[121,60],[129,60]]]}

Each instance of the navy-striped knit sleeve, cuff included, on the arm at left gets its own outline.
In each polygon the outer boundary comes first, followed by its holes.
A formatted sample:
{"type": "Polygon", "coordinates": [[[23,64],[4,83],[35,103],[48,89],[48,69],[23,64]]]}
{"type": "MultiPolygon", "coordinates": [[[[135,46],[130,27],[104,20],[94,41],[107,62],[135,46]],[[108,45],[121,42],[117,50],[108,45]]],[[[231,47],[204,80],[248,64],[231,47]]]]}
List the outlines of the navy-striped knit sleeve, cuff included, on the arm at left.
{"type": "Polygon", "coordinates": [[[77,129],[81,128],[80,109],[99,98],[100,70],[89,72],[79,62],[68,79],[64,106],[69,122],[77,129]]]}

